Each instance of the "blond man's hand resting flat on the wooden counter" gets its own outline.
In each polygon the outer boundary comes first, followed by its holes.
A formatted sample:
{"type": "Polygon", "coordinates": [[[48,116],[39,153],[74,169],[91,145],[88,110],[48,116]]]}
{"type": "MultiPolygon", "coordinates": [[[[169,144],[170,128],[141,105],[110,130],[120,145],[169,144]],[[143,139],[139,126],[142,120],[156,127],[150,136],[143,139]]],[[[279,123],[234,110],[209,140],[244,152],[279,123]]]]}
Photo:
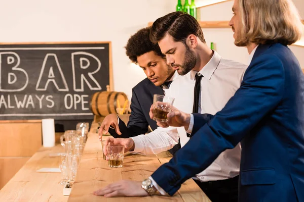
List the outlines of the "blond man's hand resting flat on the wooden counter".
{"type": "Polygon", "coordinates": [[[141,182],[131,180],[121,180],[105,186],[93,192],[94,195],[104,197],[114,196],[147,196],[148,192],[141,188],[141,182]]]}

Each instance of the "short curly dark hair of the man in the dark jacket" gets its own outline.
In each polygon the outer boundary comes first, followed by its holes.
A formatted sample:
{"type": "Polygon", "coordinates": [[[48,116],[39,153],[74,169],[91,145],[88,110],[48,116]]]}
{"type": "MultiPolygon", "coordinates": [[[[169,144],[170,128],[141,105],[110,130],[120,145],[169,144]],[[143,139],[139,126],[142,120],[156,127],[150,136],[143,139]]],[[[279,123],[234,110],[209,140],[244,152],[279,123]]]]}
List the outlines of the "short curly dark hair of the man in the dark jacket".
{"type": "Polygon", "coordinates": [[[157,43],[149,39],[150,27],[138,30],[132,35],[126,45],[126,54],[133,63],[137,63],[137,57],[145,53],[154,51],[158,56],[165,58],[161,48],[157,43]]]}

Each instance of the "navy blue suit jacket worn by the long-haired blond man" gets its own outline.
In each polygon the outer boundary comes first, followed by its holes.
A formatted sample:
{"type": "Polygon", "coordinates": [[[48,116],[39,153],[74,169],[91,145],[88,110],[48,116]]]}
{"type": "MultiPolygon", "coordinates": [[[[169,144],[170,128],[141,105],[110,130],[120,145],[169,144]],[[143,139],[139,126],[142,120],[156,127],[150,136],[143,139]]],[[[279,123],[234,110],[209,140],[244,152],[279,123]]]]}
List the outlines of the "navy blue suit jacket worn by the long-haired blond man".
{"type": "Polygon", "coordinates": [[[304,76],[287,46],[260,44],[226,106],[194,120],[196,134],[152,175],[170,195],[241,141],[239,201],[304,201],[304,76]]]}

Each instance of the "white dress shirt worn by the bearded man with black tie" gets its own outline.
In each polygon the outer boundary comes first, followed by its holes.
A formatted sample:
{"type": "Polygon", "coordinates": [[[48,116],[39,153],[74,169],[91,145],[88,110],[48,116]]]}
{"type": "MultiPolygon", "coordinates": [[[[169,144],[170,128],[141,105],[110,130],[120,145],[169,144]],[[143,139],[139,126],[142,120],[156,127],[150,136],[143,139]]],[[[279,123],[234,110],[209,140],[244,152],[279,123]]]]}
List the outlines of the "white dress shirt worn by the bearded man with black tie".
{"type": "MultiPolygon", "coordinates": [[[[216,114],[240,87],[247,66],[231,60],[222,59],[215,51],[211,60],[199,72],[204,77],[201,80],[199,112],[216,114]]],[[[191,71],[176,78],[166,95],[174,97],[174,106],[185,112],[192,113],[194,103],[195,75],[191,71]]],[[[134,153],[158,154],[172,148],[180,137],[184,146],[189,138],[184,127],[158,127],[147,135],[132,137],[135,143],[134,153]]],[[[217,159],[203,172],[196,175],[200,181],[214,181],[232,178],[239,175],[241,146],[223,151],[217,159]]],[[[153,179],[152,179],[153,180],[153,179]]],[[[154,182],[154,180],[153,180],[154,182]]],[[[154,182],[155,186],[161,190],[154,182]]],[[[160,191],[164,194],[164,191],[160,191]]]]}

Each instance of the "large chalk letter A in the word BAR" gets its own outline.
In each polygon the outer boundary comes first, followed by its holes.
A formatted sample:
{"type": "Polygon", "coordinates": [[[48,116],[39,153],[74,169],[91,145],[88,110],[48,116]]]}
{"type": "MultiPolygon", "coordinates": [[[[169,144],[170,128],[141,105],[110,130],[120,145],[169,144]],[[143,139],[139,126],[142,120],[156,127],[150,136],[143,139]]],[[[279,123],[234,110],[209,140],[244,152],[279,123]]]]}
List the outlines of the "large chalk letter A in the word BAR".
{"type": "Polygon", "coordinates": [[[53,82],[58,91],[68,91],[68,86],[56,54],[46,55],[36,84],[36,90],[47,90],[50,82],[53,82]]]}

